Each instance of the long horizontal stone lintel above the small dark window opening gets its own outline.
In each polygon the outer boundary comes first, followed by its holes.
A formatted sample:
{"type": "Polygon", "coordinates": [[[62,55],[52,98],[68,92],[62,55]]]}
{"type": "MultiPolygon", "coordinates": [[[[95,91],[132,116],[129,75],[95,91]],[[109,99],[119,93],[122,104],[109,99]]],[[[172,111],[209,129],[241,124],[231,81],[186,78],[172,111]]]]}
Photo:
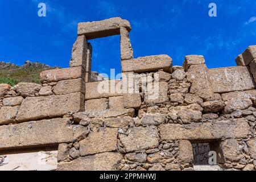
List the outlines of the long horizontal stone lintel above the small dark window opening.
{"type": "Polygon", "coordinates": [[[159,126],[162,140],[205,140],[221,138],[246,138],[250,127],[245,119],[192,123],[190,125],[164,124],[159,126]]]}

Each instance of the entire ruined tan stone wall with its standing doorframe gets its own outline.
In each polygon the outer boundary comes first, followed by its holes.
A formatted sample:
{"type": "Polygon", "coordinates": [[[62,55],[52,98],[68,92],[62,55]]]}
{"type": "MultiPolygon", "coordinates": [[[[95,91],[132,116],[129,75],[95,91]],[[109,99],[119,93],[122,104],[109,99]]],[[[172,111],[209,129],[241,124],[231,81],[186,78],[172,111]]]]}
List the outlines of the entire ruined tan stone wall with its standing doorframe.
{"type": "Polygon", "coordinates": [[[209,151],[221,170],[256,169],[256,46],[237,67],[208,69],[198,55],[181,67],[134,59],[130,31],[121,18],[79,23],[69,68],[43,71],[42,85],[0,85],[0,170],[193,170],[209,151]],[[91,82],[88,40],[112,35],[122,80],[91,82]],[[22,165],[40,151],[46,163],[22,165]]]}

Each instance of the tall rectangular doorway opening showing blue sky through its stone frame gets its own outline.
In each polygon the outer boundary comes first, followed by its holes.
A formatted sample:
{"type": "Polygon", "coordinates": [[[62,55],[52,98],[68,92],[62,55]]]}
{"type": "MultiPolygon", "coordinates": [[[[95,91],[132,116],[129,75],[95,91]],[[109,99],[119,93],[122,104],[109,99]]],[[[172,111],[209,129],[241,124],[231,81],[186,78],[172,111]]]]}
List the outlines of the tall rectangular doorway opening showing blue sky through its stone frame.
{"type": "MultiPolygon", "coordinates": [[[[105,78],[111,80],[120,80],[116,78],[121,73],[120,60],[120,36],[110,36],[106,38],[93,39],[89,41],[92,44],[92,76],[91,81],[102,81],[105,78]],[[95,72],[96,71],[96,72],[95,72]],[[98,74],[100,79],[97,79],[98,74]],[[105,77],[105,78],[101,78],[105,77]]],[[[120,74],[121,75],[121,74],[120,74]]]]}

